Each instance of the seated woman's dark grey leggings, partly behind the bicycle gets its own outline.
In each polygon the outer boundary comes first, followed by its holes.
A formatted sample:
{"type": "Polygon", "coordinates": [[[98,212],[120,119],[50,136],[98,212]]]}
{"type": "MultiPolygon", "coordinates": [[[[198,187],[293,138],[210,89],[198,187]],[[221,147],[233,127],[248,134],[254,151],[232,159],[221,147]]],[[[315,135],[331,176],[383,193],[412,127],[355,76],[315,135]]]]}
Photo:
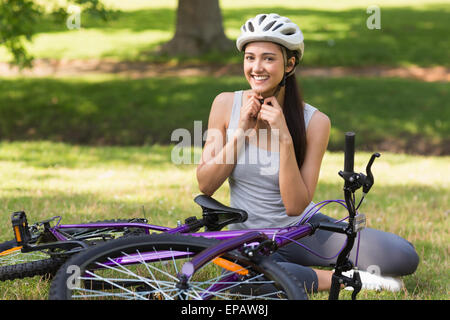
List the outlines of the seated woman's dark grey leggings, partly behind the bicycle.
{"type": "MultiPolygon", "coordinates": [[[[314,215],[311,222],[336,220],[321,213],[314,215]]],[[[341,222],[345,223],[345,222],[341,222]]],[[[383,276],[404,276],[414,273],[419,264],[419,256],[414,246],[407,240],[380,230],[365,228],[360,232],[358,264],[359,270],[381,274],[383,276]]],[[[333,257],[344,245],[346,236],[335,232],[317,230],[312,236],[298,242],[318,253],[322,257],[333,257]]],[[[356,261],[358,238],[350,252],[350,260],[356,261]]],[[[305,288],[317,291],[316,273],[310,266],[329,267],[336,258],[328,260],[318,257],[295,243],[277,250],[273,259],[282,264],[302,281],[305,288]]]]}

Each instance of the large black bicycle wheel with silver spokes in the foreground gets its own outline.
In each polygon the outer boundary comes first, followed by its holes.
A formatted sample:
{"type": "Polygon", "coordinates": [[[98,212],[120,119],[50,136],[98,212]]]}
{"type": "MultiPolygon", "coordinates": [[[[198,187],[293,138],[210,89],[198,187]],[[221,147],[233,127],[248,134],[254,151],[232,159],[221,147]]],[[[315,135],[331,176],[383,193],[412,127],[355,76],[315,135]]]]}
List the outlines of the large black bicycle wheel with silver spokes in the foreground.
{"type": "MultiPolygon", "coordinates": [[[[177,266],[179,262],[179,256],[177,254],[180,252],[190,252],[195,255],[217,243],[218,240],[216,239],[180,234],[135,236],[109,241],[105,244],[88,248],[66,261],[52,280],[49,299],[97,299],[100,294],[104,294],[105,298],[108,299],[113,298],[113,295],[116,295],[114,298],[118,299],[201,299],[211,298],[209,296],[213,293],[218,295],[216,298],[221,299],[241,299],[243,295],[246,299],[250,297],[256,299],[278,298],[280,294],[290,300],[307,299],[307,294],[300,282],[272,259],[265,256],[258,256],[255,261],[253,259],[250,261],[237,251],[226,253],[220,257],[239,266],[243,266],[242,269],[245,268],[248,271],[246,276],[240,276],[239,280],[235,282],[225,281],[225,277],[228,277],[230,274],[234,276],[234,274],[218,267],[217,269],[221,271],[213,273],[211,270],[206,270],[203,272],[213,277],[212,279],[208,278],[207,280],[202,279],[199,281],[198,279],[204,276],[201,272],[205,268],[203,267],[192,276],[192,279],[194,279],[198,275],[195,281],[189,281],[188,287],[177,288],[179,282],[177,282],[174,276],[169,274],[170,271],[173,271],[174,275],[178,274],[180,270],[179,268],[182,263],[177,266]],[[137,254],[142,258],[146,254],[153,252],[170,252],[172,254],[171,257],[168,256],[165,259],[155,261],[164,270],[158,270],[160,267],[155,266],[156,264],[151,265],[148,259],[143,266],[126,265],[126,270],[125,263],[119,265],[117,262],[118,257],[121,257],[123,262],[133,254],[137,254]],[[103,268],[110,261],[115,261],[113,266],[117,264],[117,269],[114,267],[103,268]],[[173,266],[170,265],[171,263],[173,263],[173,266]],[[141,268],[141,270],[139,271],[138,268],[141,268]],[[74,276],[74,270],[78,270],[77,275],[80,275],[79,278],[74,276]],[[120,277],[112,278],[109,274],[114,272],[118,272],[120,277]],[[148,277],[139,275],[138,273],[140,272],[142,274],[144,272],[147,273],[148,277]],[[130,276],[129,279],[126,278],[127,275],[130,276]],[[69,285],[69,283],[73,282],[75,282],[73,286],[69,285]],[[76,284],[76,282],[79,283],[76,284]],[[202,285],[205,285],[206,289],[202,285]],[[212,292],[211,288],[214,285],[220,285],[223,289],[212,292]],[[274,292],[274,288],[279,291],[274,292]],[[112,289],[123,289],[123,293],[116,294],[112,292],[112,289]],[[135,291],[132,291],[133,289],[135,291]],[[198,292],[192,292],[196,290],[198,292]],[[248,294],[249,291],[250,296],[248,294]],[[84,295],[85,293],[87,295],[84,295]],[[254,295],[254,293],[262,294],[262,296],[254,295]]],[[[216,268],[216,265],[212,263],[209,265],[216,268]]]]}

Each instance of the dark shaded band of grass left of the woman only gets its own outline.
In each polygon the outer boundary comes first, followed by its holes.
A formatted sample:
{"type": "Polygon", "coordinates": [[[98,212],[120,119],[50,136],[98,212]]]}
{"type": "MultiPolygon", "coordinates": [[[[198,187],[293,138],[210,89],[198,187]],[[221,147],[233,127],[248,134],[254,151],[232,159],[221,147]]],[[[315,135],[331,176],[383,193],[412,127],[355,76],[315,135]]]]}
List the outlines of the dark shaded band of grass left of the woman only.
{"type": "Polygon", "coordinates": [[[80,144],[168,143],[176,128],[192,130],[194,120],[206,126],[219,90],[237,90],[240,84],[222,80],[216,86],[209,78],[4,80],[0,135],[80,144]]]}

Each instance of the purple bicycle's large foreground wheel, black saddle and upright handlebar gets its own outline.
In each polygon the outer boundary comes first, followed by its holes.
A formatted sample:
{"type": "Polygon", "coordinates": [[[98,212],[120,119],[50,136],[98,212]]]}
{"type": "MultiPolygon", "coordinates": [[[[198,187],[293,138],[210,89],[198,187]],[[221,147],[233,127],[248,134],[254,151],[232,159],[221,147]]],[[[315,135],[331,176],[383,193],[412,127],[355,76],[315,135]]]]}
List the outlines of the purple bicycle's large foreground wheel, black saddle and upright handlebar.
{"type": "Polygon", "coordinates": [[[160,235],[108,241],[70,258],[52,281],[50,299],[302,299],[304,288],[273,262],[270,254],[317,229],[347,237],[334,266],[329,299],[339,298],[341,286],[353,287],[352,299],[356,299],[361,279],[348,256],[365,227],[365,216],[357,210],[374,183],[371,167],[380,154],[371,156],[366,175],[355,173],[354,138],[354,133],[346,134],[344,171],[339,172],[345,200],[317,204],[315,212],[292,227],[218,231],[229,223],[244,221],[246,212],[197,196],[195,201],[203,209],[200,220],[188,218],[160,235]],[[355,192],[361,187],[363,196],[356,205],[355,192]],[[332,202],[346,207],[348,224],[309,222],[321,206],[332,202]],[[206,231],[197,232],[202,227],[206,231]],[[352,277],[343,275],[351,269],[352,277]]]}

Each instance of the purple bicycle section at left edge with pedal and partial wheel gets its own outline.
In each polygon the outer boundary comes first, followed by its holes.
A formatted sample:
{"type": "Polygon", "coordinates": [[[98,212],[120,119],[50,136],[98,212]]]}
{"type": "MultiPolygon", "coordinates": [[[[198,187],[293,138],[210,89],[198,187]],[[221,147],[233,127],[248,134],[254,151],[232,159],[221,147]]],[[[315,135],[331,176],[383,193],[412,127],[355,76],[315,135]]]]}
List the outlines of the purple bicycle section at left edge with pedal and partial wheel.
{"type": "Polygon", "coordinates": [[[54,275],[64,261],[93,244],[145,232],[145,219],[117,219],[60,225],[62,217],[28,226],[24,211],[11,216],[15,239],[0,243],[0,281],[54,275]],[[56,221],[55,226],[51,223],[56,221]]]}

